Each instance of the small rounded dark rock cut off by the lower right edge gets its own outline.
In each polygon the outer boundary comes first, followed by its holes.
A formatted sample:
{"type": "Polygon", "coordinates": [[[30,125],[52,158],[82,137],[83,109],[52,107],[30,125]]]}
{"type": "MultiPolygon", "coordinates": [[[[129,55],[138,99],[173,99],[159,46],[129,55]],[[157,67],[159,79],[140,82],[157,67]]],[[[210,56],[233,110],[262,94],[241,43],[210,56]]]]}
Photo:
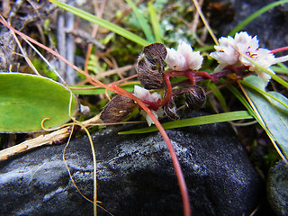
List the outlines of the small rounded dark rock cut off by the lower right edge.
{"type": "Polygon", "coordinates": [[[278,216],[288,215],[288,165],[284,160],[279,161],[269,170],[267,197],[278,216]]]}

